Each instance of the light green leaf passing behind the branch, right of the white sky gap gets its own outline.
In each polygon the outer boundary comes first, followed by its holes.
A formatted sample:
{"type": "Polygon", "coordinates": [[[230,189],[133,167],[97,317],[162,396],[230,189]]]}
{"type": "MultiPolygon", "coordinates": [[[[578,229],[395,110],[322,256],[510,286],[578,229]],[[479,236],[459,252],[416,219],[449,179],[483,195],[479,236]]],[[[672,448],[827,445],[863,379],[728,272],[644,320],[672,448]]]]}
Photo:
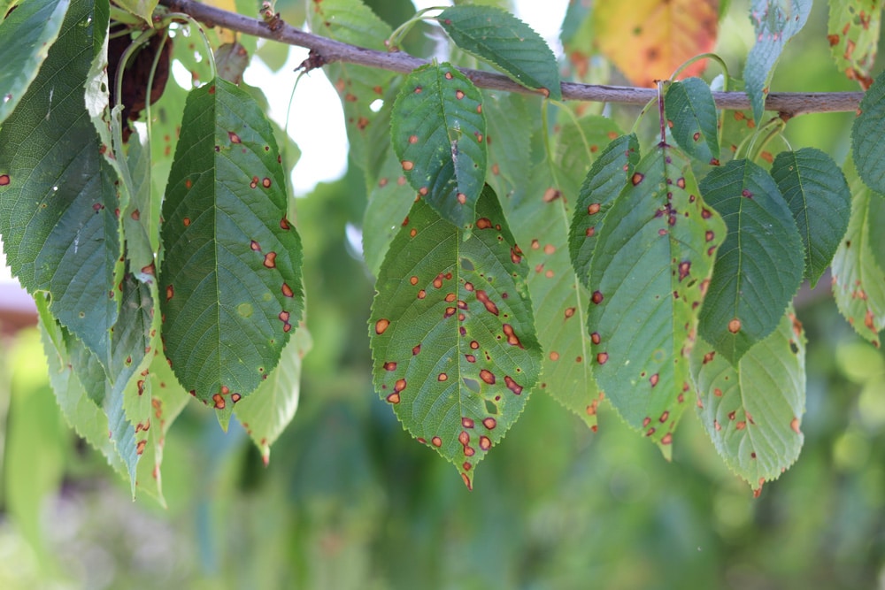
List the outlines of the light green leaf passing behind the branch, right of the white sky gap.
{"type": "MultiPolygon", "coordinates": [[[[392,32],[387,23],[360,0],[315,2],[307,16],[314,33],[370,50],[386,50],[384,40],[392,32]]],[[[373,103],[383,98],[384,89],[396,74],[342,62],[325,65],[324,70],[341,96],[350,157],[363,170],[370,170],[377,149],[372,132],[375,126],[381,125],[373,103]]]]}

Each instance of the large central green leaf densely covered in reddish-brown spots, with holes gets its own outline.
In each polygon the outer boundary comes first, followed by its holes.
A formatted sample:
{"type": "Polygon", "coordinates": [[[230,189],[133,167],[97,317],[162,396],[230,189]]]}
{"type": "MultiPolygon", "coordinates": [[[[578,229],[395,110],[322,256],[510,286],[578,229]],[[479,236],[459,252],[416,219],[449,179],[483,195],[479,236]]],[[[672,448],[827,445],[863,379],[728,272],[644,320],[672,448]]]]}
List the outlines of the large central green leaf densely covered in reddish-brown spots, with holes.
{"type": "Polygon", "coordinates": [[[474,467],[516,421],[541,368],[519,259],[486,188],[470,237],[417,201],[379,272],[374,384],[419,442],[474,467]]]}

